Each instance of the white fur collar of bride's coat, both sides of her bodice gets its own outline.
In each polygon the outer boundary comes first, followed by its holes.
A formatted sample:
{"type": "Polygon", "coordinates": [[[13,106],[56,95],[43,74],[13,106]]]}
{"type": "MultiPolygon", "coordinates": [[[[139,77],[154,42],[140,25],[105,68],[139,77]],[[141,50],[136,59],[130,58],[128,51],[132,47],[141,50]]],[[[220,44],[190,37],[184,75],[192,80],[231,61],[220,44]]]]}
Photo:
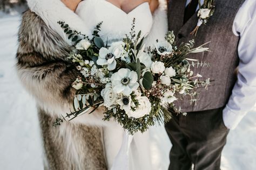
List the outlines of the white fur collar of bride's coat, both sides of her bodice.
{"type": "MultiPolygon", "coordinates": [[[[91,34],[91,28],[86,27],[86,23],[60,0],[27,0],[27,2],[30,10],[40,16],[48,27],[56,31],[69,44],[71,41],[68,40],[58,21],[65,21],[73,30],[83,34],[91,34]]],[[[166,1],[159,0],[159,3],[158,9],[153,14],[151,32],[145,40],[147,46],[152,45],[156,39],[163,39],[167,32],[166,1]]]]}

